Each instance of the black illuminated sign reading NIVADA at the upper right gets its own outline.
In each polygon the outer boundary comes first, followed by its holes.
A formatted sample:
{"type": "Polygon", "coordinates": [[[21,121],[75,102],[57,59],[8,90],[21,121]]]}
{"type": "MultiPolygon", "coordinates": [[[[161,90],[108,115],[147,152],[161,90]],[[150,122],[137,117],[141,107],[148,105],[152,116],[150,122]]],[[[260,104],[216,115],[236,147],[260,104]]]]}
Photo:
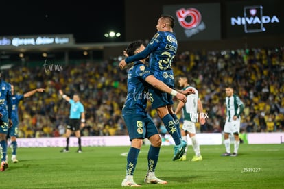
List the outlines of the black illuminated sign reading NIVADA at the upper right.
{"type": "Polygon", "coordinates": [[[284,34],[279,0],[227,2],[225,15],[226,38],[284,34]]]}

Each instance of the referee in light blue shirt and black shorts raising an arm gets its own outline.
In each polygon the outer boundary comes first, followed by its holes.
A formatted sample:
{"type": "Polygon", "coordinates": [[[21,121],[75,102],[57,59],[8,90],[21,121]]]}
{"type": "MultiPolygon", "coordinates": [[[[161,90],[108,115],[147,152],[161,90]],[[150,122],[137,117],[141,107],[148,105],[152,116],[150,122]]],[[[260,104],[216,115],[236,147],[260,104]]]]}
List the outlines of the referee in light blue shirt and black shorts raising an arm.
{"type": "Polygon", "coordinates": [[[81,146],[81,131],[80,127],[85,126],[85,112],[84,112],[84,105],[80,102],[79,95],[73,95],[73,99],[64,95],[62,90],[59,90],[60,95],[62,98],[65,99],[70,103],[70,114],[69,114],[69,123],[66,129],[66,147],[62,149],[61,152],[69,152],[69,140],[72,132],[75,133],[75,136],[78,138],[78,153],[82,153],[82,146],[81,146]]]}

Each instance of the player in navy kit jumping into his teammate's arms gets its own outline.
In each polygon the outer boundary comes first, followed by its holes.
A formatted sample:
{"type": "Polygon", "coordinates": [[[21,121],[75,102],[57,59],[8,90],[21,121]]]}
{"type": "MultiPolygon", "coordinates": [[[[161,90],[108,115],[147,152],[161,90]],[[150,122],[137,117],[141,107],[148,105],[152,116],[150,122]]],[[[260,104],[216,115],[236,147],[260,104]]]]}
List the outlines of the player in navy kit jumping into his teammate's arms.
{"type": "MultiPolygon", "coordinates": [[[[127,63],[142,60],[150,55],[149,64],[152,75],[163,81],[170,88],[174,88],[174,71],[171,68],[171,64],[176,56],[178,42],[173,27],[174,18],[169,15],[162,15],[156,25],[158,32],[150,40],[146,49],[141,53],[121,60],[119,67],[123,69],[127,63]]],[[[172,108],[174,101],[171,94],[167,94],[156,88],[150,89],[150,93],[153,96],[151,101],[152,108],[156,108],[158,116],[163,121],[167,131],[176,144],[174,147],[173,160],[178,160],[185,152],[187,142],[182,140],[180,134],[178,117],[172,108]]]]}

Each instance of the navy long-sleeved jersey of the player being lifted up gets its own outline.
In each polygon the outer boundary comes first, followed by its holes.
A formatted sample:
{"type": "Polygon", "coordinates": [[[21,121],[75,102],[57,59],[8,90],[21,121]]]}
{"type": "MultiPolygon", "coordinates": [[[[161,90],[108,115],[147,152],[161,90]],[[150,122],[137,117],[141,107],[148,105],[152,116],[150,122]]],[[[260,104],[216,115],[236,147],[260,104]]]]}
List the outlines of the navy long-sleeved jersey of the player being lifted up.
{"type": "Polygon", "coordinates": [[[126,58],[126,63],[142,60],[150,55],[152,75],[168,86],[174,86],[174,72],[171,64],[176,56],[178,42],[173,32],[158,31],[141,53],[126,58]]]}

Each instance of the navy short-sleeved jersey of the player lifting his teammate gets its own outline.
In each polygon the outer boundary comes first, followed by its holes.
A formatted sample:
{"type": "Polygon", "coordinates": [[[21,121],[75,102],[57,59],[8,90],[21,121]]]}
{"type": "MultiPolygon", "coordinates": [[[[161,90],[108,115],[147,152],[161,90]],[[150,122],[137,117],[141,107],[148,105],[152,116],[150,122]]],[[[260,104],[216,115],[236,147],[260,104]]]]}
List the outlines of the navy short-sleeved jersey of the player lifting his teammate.
{"type": "Polygon", "coordinates": [[[134,65],[128,71],[128,92],[126,103],[122,108],[122,115],[139,114],[146,115],[147,100],[149,93],[147,87],[150,86],[145,78],[151,75],[150,69],[142,62],[134,62],[134,65]]]}

